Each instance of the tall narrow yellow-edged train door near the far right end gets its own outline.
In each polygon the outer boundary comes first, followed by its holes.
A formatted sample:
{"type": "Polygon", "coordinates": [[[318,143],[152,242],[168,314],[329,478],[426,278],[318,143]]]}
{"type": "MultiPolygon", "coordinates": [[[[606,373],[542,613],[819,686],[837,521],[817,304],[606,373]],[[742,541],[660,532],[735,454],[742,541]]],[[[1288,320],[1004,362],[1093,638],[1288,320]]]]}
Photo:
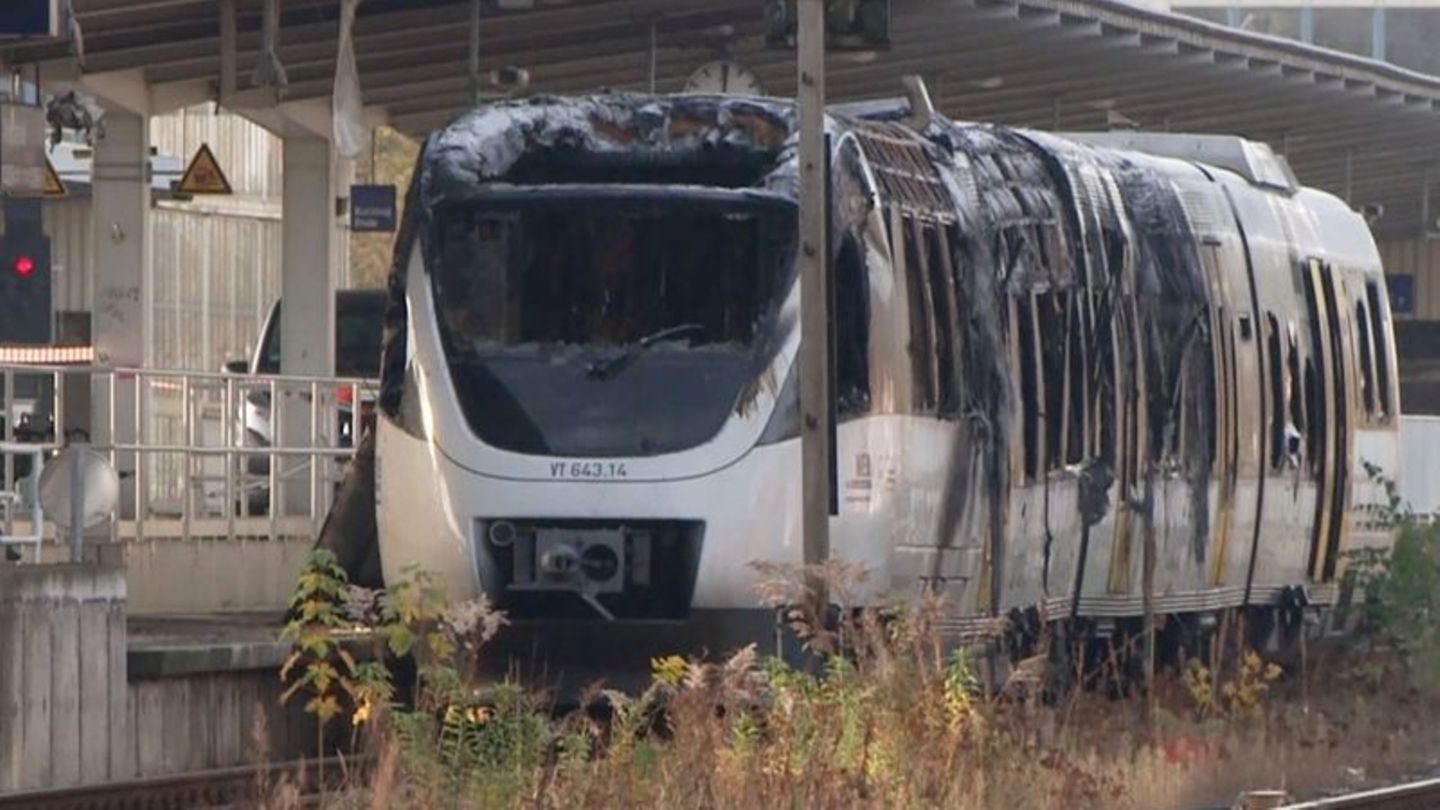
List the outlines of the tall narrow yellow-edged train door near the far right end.
{"type": "Polygon", "coordinates": [[[1346,317],[1349,304],[1333,268],[1312,258],[1305,264],[1303,282],[1316,363],[1315,373],[1306,375],[1306,396],[1312,402],[1310,431],[1315,434],[1310,461],[1318,484],[1309,571],[1312,581],[1328,582],[1335,578],[1346,533],[1354,432],[1349,359],[1354,353],[1346,317]]]}

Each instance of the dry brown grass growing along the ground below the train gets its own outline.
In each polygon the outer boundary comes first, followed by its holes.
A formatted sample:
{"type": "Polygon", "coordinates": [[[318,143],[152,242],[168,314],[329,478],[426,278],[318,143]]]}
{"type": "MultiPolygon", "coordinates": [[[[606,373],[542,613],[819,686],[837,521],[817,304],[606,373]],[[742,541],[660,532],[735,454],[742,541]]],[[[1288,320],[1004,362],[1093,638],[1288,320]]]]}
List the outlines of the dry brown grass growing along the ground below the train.
{"type": "MultiPolygon", "coordinates": [[[[808,604],[805,574],[770,574],[769,602],[808,604]]],[[[831,597],[844,602],[854,575],[828,571],[831,597]]],[[[939,641],[939,605],[845,613],[834,628],[786,610],[809,669],[755,649],[665,659],[644,693],[596,689],[603,711],[567,715],[513,685],[422,689],[416,711],[379,712],[376,767],[325,806],[1201,807],[1416,773],[1440,754],[1433,699],[1359,695],[1325,662],[1305,689],[1282,679],[1234,708],[1201,706],[1168,673],[1148,722],[1142,700],[1096,692],[1058,705],[1025,685],[985,696],[968,659],[939,641]]],[[[271,807],[295,801],[275,793],[271,807]]]]}

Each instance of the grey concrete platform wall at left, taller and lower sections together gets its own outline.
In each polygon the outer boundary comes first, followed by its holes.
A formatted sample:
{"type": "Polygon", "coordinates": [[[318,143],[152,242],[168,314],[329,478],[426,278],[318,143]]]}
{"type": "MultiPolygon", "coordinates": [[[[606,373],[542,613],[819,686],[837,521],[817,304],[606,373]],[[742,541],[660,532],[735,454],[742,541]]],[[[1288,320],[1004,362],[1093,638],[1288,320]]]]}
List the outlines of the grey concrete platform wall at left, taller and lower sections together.
{"type": "Polygon", "coordinates": [[[145,643],[128,624],[118,559],[0,565],[0,793],[314,752],[269,628],[145,643]]]}

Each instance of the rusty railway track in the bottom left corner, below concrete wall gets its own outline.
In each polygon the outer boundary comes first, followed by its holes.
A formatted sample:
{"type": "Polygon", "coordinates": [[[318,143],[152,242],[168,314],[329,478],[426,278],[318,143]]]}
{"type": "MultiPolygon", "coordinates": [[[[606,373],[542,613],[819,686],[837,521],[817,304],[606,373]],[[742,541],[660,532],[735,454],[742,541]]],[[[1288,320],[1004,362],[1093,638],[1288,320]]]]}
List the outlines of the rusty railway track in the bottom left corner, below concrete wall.
{"type": "MultiPolygon", "coordinates": [[[[363,767],[364,762],[360,762],[363,767]]],[[[325,760],[325,783],[340,784],[356,760],[325,760]]],[[[168,777],[127,780],[0,794],[0,810],[190,810],[193,807],[256,807],[269,787],[295,784],[301,796],[318,796],[314,760],[264,767],[219,768],[168,777]]]]}

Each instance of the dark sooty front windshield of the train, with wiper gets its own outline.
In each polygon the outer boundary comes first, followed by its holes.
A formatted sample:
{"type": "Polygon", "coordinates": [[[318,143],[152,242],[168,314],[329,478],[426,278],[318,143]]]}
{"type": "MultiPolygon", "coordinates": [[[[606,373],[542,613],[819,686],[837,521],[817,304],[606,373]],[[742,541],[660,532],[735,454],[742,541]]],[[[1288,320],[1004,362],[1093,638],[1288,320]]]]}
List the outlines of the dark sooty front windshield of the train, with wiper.
{"type": "Polygon", "coordinates": [[[514,195],[441,209],[435,308],[475,434],[638,457],[714,437],[780,343],[788,200],[514,195]]]}

